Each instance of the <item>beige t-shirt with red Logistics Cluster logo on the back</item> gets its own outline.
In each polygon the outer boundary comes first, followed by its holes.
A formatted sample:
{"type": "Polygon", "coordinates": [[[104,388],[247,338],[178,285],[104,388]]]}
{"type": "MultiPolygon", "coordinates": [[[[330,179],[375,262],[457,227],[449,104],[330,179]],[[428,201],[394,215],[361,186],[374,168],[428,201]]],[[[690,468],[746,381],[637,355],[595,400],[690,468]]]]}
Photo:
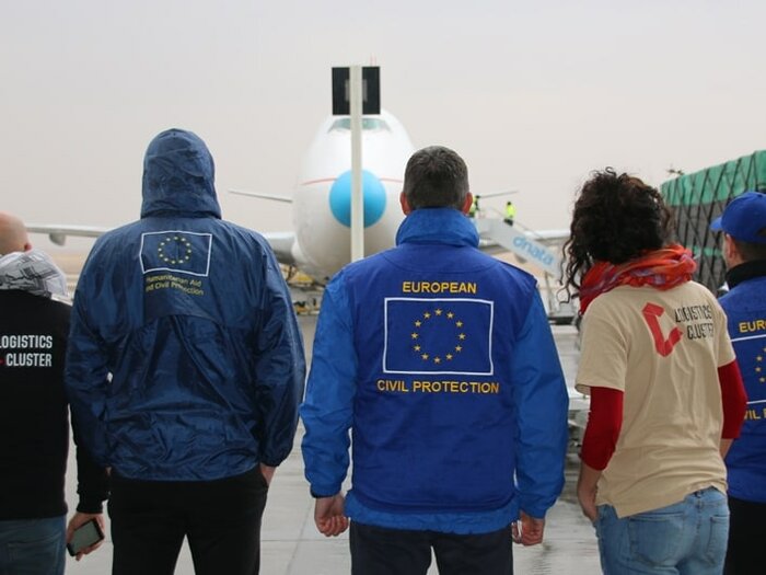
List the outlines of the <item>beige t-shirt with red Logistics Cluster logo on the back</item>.
{"type": "Polygon", "coordinates": [[[583,317],[576,387],[625,394],[596,505],[625,517],[709,486],[726,493],[717,368],[733,360],[723,310],[699,284],[666,291],[620,286],[593,300],[583,317]]]}

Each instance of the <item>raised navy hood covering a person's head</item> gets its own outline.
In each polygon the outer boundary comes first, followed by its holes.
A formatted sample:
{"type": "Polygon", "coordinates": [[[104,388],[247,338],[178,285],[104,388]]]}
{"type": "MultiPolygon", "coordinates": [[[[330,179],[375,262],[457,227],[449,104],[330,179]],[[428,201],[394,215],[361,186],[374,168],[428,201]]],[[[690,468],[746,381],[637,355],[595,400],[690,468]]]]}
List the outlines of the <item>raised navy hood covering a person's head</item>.
{"type": "Polygon", "coordinates": [[[169,129],[156,136],[143,158],[141,217],[221,217],[216,166],[205,142],[190,131],[169,129]]]}

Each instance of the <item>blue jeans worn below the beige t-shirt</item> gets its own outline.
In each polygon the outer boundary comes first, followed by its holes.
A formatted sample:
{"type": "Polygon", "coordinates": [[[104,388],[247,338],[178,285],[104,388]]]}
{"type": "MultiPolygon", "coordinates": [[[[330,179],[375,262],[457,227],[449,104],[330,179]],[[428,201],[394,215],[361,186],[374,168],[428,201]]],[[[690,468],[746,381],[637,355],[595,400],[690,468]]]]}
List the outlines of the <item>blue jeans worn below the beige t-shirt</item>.
{"type": "Polygon", "coordinates": [[[708,487],[622,519],[611,505],[600,505],[595,531],[606,575],[720,575],[729,538],[727,496],[708,487]]]}

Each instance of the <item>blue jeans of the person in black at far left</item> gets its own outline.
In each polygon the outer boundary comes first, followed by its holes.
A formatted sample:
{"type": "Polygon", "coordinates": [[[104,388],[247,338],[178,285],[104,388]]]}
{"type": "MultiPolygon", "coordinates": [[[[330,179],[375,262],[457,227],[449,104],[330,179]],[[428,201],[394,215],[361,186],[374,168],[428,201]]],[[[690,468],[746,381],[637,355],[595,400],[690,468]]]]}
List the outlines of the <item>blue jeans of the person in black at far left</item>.
{"type": "Polygon", "coordinates": [[[0,575],[62,575],[67,516],[0,521],[0,575]]]}

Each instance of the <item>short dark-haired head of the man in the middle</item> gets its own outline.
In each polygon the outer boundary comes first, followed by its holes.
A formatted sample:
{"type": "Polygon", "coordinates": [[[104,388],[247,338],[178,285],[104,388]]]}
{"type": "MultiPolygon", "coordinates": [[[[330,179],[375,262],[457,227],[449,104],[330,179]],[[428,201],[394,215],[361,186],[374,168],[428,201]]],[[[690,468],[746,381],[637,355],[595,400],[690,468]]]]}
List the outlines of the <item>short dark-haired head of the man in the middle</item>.
{"type": "Polygon", "coordinates": [[[463,209],[468,196],[468,168],[450,148],[418,150],[404,172],[404,195],[411,209],[463,209]]]}

